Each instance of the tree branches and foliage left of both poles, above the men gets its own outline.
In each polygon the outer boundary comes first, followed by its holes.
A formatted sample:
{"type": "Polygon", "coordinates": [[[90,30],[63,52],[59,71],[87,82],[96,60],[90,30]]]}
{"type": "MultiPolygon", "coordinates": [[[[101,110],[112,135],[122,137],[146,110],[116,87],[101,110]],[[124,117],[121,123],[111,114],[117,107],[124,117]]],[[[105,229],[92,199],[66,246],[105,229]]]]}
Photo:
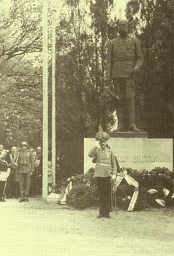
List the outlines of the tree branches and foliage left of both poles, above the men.
{"type": "Polygon", "coordinates": [[[41,145],[41,2],[1,1],[1,140],[41,145]]]}

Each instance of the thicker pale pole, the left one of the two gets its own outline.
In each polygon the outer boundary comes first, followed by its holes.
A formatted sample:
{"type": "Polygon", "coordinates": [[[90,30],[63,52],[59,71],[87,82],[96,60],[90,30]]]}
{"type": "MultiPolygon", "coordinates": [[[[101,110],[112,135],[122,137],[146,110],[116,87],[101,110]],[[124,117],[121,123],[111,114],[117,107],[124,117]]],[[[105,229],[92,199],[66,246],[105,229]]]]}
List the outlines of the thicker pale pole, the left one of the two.
{"type": "Polygon", "coordinates": [[[42,197],[48,195],[48,3],[43,0],[43,179],[42,197]]]}

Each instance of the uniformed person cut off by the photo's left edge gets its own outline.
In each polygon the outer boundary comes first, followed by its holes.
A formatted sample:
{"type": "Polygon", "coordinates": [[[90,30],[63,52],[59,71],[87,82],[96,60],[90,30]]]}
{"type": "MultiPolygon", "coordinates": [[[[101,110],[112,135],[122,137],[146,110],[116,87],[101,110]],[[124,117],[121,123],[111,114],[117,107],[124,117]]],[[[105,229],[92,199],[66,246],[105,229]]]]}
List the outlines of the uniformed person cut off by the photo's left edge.
{"type": "Polygon", "coordinates": [[[10,174],[10,156],[8,150],[3,148],[3,145],[0,145],[0,202],[5,202],[4,198],[4,188],[6,186],[6,181],[8,175],[10,174]]]}

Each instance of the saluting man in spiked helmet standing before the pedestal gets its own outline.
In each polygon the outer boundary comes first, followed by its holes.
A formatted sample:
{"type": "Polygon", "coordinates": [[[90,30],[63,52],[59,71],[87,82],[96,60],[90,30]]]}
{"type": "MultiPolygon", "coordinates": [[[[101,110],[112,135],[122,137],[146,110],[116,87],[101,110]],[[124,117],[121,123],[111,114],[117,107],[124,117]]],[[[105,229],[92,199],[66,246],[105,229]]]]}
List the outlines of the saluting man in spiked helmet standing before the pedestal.
{"type": "Polygon", "coordinates": [[[113,173],[112,179],[116,179],[117,164],[115,156],[107,144],[107,141],[109,140],[108,133],[103,132],[101,127],[99,127],[99,130],[100,131],[96,134],[97,142],[95,143],[94,148],[89,152],[89,157],[95,157],[93,162],[96,163],[94,177],[96,177],[97,180],[100,203],[98,218],[111,218],[110,179],[111,172],[113,173]]]}

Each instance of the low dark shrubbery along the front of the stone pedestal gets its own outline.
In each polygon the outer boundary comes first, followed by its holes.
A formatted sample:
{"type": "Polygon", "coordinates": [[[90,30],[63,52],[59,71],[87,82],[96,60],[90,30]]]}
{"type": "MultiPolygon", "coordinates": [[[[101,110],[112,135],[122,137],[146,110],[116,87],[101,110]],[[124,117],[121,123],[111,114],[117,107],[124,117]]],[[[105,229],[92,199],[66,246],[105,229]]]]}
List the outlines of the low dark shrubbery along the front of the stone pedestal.
{"type": "MultiPolygon", "coordinates": [[[[126,168],[127,173],[133,177],[139,184],[139,195],[135,205],[136,211],[141,211],[150,207],[161,207],[156,203],[156,199],[163,199],[167,207],[174,207],[171,195],[174,192],[173,173],[167,168],[156,167],[150,172],[147,170],[133,170],[126,168]],[[170,194],[164,198],[163,188],[170,190],[170,194]],[[150,195],[149,189],[157,189],[157,193],[150,195]]],[[[119,209],[127,210],[130,199],[134,191],[133,186],[129,186],[126,180],[122,180],[117,189],[117,205],[119,209]]],[[[67,197],[67,203],[72,207],[83,209],[85,207],[98,205],[98,189],[94,179],[94,168],[83,175],[75,175],[73,188],[67,197]],[[89,185],[90,186],[87,186],[89,185]]],[[[113,202],[114,203],[114,202],[113,202]]]]}

